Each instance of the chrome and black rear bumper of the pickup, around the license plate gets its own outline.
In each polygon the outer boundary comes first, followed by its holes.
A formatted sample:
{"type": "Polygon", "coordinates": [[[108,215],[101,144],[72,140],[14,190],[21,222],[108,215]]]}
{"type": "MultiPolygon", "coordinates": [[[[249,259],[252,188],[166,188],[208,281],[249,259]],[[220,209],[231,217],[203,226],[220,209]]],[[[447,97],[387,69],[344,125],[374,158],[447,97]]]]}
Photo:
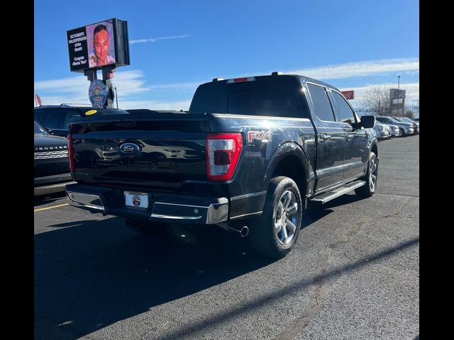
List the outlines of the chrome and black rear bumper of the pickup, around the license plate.
{"type": "Polygon", "coordinates": [[[72,184],[66,187],[68,203],[74,207],[153,222],[216,224],[228,219],[227,198],[172,195],[148,192],[148,208],[126,207],[123,191],[72,184]]]}

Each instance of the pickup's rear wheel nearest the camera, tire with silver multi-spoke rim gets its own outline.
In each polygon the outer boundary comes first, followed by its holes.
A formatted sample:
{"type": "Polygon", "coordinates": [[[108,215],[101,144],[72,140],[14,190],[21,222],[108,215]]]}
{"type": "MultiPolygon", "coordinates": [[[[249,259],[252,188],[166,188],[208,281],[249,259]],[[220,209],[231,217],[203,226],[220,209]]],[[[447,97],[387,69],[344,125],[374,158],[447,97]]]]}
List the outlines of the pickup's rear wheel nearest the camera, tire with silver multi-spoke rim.
{"type": "Polygon", "coordinates": [[[253,249],[275,259],[286,256],[297,242],[302,208],[297,183],[284,176],[272,179],[263,214],[250,231],[253,249]]]}

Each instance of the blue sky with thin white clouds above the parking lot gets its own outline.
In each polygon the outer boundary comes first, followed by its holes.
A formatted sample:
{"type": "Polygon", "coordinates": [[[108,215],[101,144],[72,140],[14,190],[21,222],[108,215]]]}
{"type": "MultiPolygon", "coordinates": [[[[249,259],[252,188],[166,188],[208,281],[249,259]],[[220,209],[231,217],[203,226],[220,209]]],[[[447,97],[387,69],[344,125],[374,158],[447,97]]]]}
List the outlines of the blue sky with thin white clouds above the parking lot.
{"type": "Polygon", "coordinates": [[[119,108],[187,110],[199,84],[274,71],[354,90],[359,110],[367,89],[399,79],[406,106],[419,105],[416,0],[35,0],[34,10],[43,104],[90,103],[87,77],[70,72],[66,32],[118,18],[131,60],[114,72],[119,108]]]}

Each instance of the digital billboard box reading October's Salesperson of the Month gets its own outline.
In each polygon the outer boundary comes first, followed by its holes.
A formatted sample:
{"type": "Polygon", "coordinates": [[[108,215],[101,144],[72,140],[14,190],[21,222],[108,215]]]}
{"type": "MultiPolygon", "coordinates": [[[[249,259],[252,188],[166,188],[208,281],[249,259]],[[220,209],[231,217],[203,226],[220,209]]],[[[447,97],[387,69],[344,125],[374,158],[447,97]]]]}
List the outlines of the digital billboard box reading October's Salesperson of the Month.
{"type": "Polygon", "coordinates": [[[116,18],[67,31],[70,69],[101,69],[129,64],[128,26],[116,18]]]}

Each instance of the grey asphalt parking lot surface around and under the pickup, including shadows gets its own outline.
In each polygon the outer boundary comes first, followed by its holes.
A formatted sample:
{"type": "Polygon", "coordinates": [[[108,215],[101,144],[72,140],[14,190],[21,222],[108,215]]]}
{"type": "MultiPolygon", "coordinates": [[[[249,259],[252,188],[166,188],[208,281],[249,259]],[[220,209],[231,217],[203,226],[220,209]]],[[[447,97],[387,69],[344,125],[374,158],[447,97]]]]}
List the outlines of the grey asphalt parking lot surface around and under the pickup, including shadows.
{"type": "Polygon", "coordinates": [[[35,198],[35,339],[419,338],[419,135],[379,157],[375,195],[309,205],[279,261],[217,227],[143,237],[35,198]]]}

